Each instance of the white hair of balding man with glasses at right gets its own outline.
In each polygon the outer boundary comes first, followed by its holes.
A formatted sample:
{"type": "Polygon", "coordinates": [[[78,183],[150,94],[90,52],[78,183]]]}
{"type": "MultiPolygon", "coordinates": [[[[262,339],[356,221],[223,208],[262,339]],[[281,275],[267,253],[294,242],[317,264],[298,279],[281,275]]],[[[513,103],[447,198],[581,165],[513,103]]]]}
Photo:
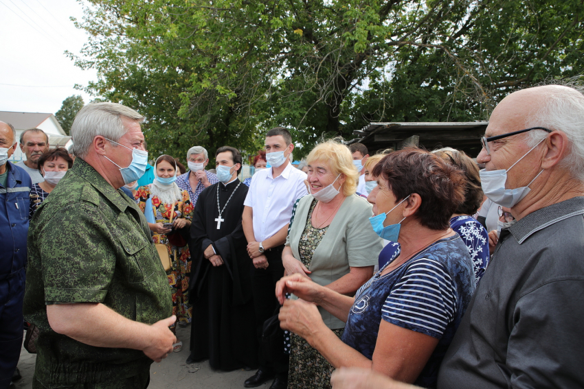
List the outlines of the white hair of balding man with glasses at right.
{"type": "MultiPolygon", "coordinates": [[[[577,93],[558,89],[546,95],[542,106],[526,119],[528,127],[546,127],[566,134],[570,141],[570,154],[563,158],[560,166],[568,169],[572,177],[584,181],[584,87],[563,84],[577,93]]],[[[547,132],[530,131],[526,137],[529,147],[535,147],[548,136],[547,132]]]]}

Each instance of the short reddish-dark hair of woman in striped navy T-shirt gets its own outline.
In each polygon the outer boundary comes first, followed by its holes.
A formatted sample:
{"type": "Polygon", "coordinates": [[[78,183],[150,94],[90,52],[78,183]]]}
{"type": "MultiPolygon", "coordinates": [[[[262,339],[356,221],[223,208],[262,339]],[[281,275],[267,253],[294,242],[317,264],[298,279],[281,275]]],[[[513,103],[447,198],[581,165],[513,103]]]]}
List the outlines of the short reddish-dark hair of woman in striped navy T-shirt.
{"type": "Polygon", "coordinates": [[[464,202],[466,180],[460,169],[419,148],[384,156],[373,168],[373,175],[388,180],[398,201],[418,193],[422,204],[414,217],[432,230],[447,229],[452,214],[464,202]]]}

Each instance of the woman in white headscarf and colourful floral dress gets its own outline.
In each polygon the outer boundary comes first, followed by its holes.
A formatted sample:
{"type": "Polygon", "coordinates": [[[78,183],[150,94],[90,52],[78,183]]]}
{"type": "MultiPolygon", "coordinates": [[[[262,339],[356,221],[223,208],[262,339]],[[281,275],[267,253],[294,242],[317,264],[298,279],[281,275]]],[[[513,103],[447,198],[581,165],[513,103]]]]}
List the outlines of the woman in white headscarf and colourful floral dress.
{"type": "MultiPolygon", "coordinates": [[[[188,274],[191,259],[186,242],[180,247],[173,246],[169,241],[169,233],[179,238],[179,230],[186,228],[188,231],[194,207],[190,203],[188,191],[181,191],[175,183],[177,165],[172,156],[159,156],[154,165],[154,174],[153,183],[139,187],[135,199],[144,214],[155,213],[155,223],[148,223],[150,231],[154,233],[153,240],[155,243],[166,244],[168,248],[172,266],[166,272],[166,276],[172,290],[172,314],[177,316],[177,322],[170,329],[176,333],[177,323],[188,325],[192,317],[192,309],[188,303],[188,274]],[[146,204],[149,209],[146,209],[146,204]],[[164,223],[170,223],[171,220],[172,228],[165,228],[164,223]]],[[[170,235],[171,239],[172,235],[170,235]]],[[[176,244],[180,238],[172,240],[176,244]]],[[[173,351],[178,353],[181,349],[182,342],[177,338],[173,351]]]]}

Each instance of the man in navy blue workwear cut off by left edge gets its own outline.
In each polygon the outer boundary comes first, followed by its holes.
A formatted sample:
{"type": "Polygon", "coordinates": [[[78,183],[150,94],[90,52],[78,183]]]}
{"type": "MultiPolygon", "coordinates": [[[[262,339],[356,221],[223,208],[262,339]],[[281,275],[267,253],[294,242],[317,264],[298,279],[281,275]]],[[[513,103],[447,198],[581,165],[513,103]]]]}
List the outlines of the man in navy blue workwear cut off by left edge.
{"type": "Polygon", "coordinates": [[[23,298],[30,176],[8,162],[16,131],[0,121],[0,388],[8,388],[23,335],[23,298]]]}

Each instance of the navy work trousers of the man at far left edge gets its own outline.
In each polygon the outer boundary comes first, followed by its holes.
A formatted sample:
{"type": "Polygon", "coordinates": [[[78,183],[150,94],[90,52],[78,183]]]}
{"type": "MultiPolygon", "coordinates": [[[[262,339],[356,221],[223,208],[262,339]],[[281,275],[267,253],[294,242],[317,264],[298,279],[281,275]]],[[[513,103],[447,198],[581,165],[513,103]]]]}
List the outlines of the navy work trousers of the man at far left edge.
{"type": "Polygon", "coordinates": [[[24,284],[24,269],[0,280],[0,388],[10,385],[21,355],[24,284]]]}

